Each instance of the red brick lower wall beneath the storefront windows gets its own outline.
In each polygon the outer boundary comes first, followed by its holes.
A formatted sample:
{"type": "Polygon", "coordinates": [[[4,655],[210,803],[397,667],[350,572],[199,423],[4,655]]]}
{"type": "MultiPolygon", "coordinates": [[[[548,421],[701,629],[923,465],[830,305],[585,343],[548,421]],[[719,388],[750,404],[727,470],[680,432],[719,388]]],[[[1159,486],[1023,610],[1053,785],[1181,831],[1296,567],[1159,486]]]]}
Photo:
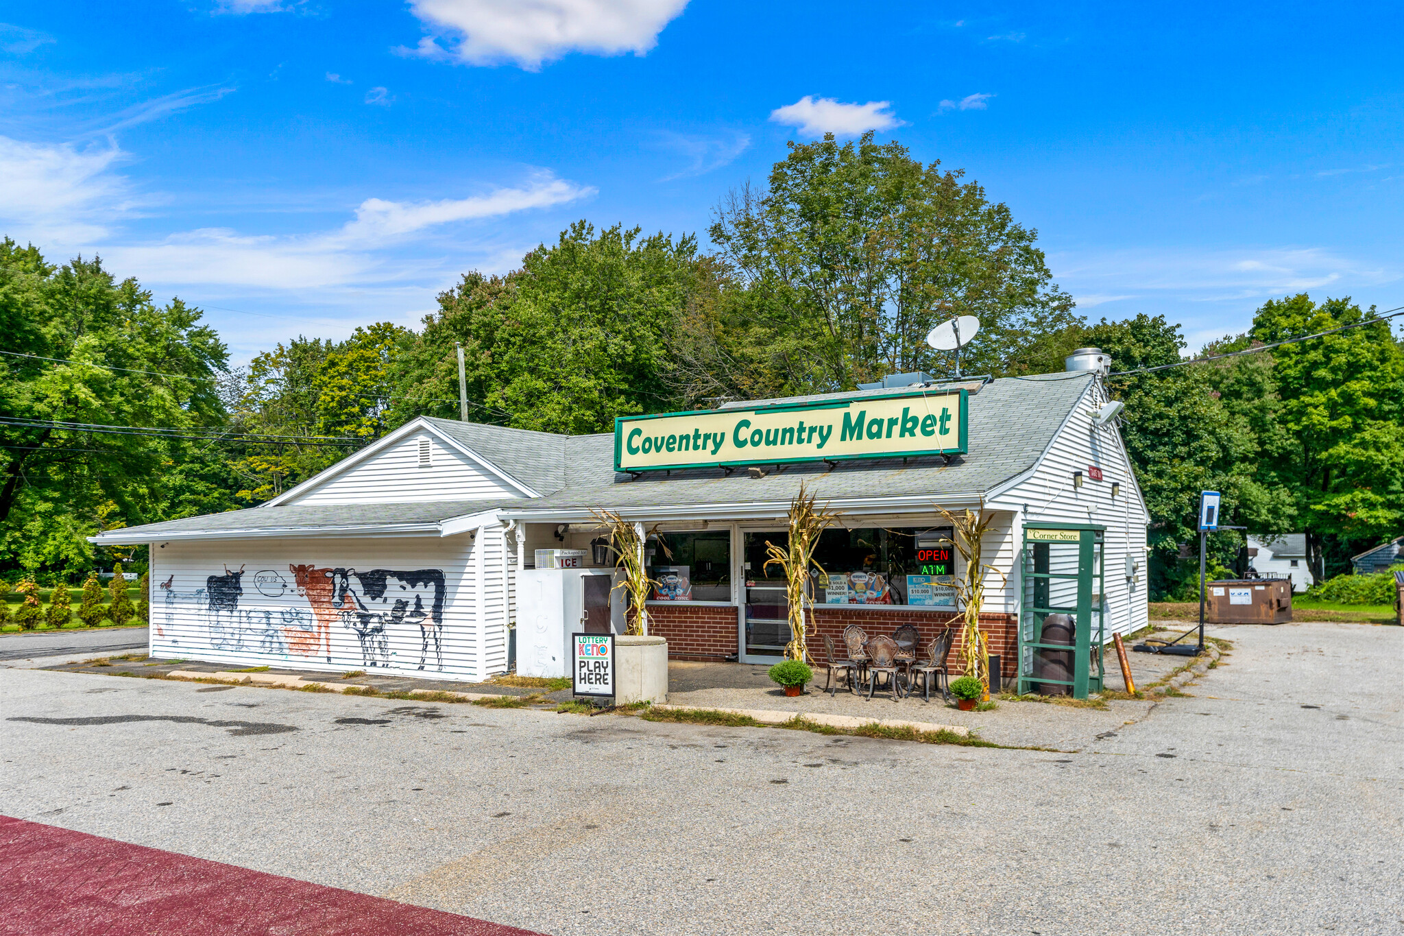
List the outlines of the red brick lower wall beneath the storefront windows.
{"type": "MultiPolygon", "coordinates": [[[[915,624],[921,643],[936,636],[951,615],[913,612],[906,608],[845,608],[820,606],[814,609],[817,633],[810,636],[810,655],[824,660],[824,639],[834,640],[834,650],[844,653],[844,627],[858,624],[869,637],[892,634],[900,624],[915,624]]],[[[965,639],[960,620],[949,665],[959,674],[963,668],[965,639]]],[[[1000,671],[1005,681],[1018,672],[1015,657],[1019,650],[1016,615],[980,615],[980,627],[990,634],[990,653],[1000,655],[1000,671]]],[[[736,648],[736,608],[698,608],[695,605],[649,605],[649,633],[665,637],[670,660],[722,661],[733,657],[736,648]]]]}

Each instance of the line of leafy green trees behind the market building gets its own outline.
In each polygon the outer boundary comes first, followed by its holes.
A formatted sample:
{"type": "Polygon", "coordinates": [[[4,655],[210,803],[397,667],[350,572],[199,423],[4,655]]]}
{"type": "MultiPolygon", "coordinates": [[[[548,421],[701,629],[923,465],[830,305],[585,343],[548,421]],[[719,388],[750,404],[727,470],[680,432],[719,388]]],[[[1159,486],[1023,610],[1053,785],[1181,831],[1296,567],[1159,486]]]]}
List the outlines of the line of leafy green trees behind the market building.
{"type": "MultiPolygon", "coordinates": [[[[1060,370],[1073,348],[1116,370],[1181,361],[1161,316],[1090,323],[1053,282],[1038,232],[962,171],[868,135],[790,143],[764,187],[727,194],[695,234],[577,222],[505,275],[469,272],[418,328],[298,337],[232,368],[178,299],[157,306],[98,258],[51,262],[0,243],[0,575],[79,581],[133,554],[86,536],[250,507],[417,417],[552,432],[618,415],[949,373],[925,335],[973,314],[966,373],[1060,370]]],[[[1151,594],[1182,596],[1198,494],[1255,533],[1307,532],[1318,577],[1404,526],[1404,351],[1349,299],[1287,296],[1199,355],[1342,324],[1245,355],[1126,375],[1123,434],[1146,493],[1151,594]]],[[[1213,537],[1231,566],[1241,536],[1213,537]]]]}

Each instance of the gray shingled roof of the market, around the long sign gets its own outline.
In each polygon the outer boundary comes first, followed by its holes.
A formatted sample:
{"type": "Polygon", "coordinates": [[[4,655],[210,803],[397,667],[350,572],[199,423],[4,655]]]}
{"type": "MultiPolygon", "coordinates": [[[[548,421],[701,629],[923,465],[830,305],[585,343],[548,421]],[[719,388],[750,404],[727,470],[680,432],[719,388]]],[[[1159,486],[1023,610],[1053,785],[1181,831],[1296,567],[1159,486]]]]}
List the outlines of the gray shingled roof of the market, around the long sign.
{"type": "MultiPolygon", "coordinates": [[[[257,507],[152,523],[114,535],[146,542],[164,533],[197,530],[227,533],[246,529],[434,525],[497,508],[646,511],[650,507],[689,504],[696,504],[699,509],[705,509],[708,504],[785,504],[795,495],[800,480],[821,501],[903,495],[974,498],[1035,466],[1073,406],[1087,392],[1091,379],[1090,375],[1047,375],[986,385],[970,396],[970,452],[956,456],[949,466],[941,457],[910,459],[907,463],[901,459],[840,462],[833,469],[819,462],[786,464],[761,479],[753,479],[741,470],[727,476],[720,469],[692,469],[671,474],[654,472],[633,479],[614,470],[612,434],[564,436],[431,420],[435,428],[461,439],[501,470],[538,491],[550,493],[539,498],[493,501],[257,507]]],[[[870,394],[872,392],[802,399],[862,399],[870,394]]]]}

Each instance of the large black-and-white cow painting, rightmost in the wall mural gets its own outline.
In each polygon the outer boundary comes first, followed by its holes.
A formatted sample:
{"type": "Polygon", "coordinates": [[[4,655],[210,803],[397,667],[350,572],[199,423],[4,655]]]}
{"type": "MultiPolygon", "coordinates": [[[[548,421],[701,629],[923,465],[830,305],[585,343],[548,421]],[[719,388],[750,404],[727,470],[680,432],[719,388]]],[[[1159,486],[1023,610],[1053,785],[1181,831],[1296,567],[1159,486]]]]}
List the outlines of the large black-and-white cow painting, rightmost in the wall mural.
{"type": "Polygon", "coordinates": [[[341,613],[344,626],[361,640],[366,667],[389,667],[389,631],[403,623],[420,626],[420,662],[424,669],[434,640],[434,660],[444,668],[444,570],[420,568],[395,571],[372,568],[331,570],[331,606],[341,613]],[[355,584],[352,584],[355,578],[355,584]]]}

